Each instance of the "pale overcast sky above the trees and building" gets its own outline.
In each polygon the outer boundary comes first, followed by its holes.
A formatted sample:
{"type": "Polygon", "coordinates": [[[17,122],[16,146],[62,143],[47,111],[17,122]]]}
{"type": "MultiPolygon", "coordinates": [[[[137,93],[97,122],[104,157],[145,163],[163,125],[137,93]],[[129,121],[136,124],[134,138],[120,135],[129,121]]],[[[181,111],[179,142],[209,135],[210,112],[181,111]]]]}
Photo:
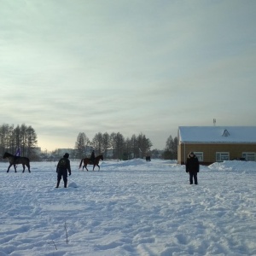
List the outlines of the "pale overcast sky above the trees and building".
{"type": "Polygon", "coordinates": [[[79,132],[256,125],[256,1],[0,0],[1,125],[79,132]]]}

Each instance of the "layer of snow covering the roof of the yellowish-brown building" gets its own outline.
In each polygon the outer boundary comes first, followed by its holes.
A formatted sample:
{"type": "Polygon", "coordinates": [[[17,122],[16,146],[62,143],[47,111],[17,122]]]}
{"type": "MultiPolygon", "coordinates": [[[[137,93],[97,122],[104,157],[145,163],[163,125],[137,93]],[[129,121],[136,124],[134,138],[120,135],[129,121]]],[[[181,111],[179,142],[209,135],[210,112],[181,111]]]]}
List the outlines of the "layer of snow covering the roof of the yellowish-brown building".
{"type": "Polygon", "coordinates": [[[178,130],[183,143],[256,143],[256,126],[180,126],[178,130]]]}

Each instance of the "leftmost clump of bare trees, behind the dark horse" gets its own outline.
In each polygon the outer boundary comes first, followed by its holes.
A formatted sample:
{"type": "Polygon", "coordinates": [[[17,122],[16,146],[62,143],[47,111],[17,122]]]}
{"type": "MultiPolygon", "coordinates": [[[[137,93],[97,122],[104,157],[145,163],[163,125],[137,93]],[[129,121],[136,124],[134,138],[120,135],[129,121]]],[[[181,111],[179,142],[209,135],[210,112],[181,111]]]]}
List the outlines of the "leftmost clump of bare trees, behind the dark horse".
{"type": "Polygon", "coordinates": [[[21,154],[29,158],[35,158],[35,148],[38,145],[38,136],[31,125],[0,125],[0,154],[9,152],[15,154],[20,148],[21,154]]]}

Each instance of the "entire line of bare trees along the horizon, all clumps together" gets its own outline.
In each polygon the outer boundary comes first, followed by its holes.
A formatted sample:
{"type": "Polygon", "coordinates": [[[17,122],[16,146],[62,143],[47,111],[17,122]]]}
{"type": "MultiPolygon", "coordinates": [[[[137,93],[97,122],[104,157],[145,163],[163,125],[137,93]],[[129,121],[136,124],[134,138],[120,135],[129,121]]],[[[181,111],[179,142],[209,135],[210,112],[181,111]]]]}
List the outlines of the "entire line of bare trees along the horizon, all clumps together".
{"type": "MultiPolygon", "coordinates": [[[[166,148],[162,154],[163,159],[177,159],[177,137],[168,137],[166,148]]],[[[120,132],[102,133],[89,139],[84,132],[79,132],[74,145],[74,157],[84,158],[90,149],[96,149],[98,154],[104,154],[105,158],[128,160],[132,158],[142,158],[146,154],[154,154],[157,149],[150,150],[153,146],[150,139],[142,132],[139,135],[133,134],[131,137],[124,137],[120,132]],[[109,149],[111,148],[111,149],[109,149]]],[[[9,152],[15,154],[20,148],[21,155],[29,157],[31,160],[38,160],[37,151],[38,137],[31,125],[0,125],[0,154],[9,152]]]]}

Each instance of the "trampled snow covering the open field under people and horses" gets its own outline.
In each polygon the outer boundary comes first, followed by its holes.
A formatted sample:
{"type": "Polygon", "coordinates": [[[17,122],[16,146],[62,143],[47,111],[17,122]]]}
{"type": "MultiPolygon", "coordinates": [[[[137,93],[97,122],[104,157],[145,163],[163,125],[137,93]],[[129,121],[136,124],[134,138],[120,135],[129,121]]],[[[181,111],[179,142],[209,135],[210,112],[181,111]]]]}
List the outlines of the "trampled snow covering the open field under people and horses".
{"type": "Polygon", "coordinates": [[[72,161],[67,189],[56,162],[31,173],[0,163],[0,256],[256,255],[256,162],[201,166],[189,185],[172,160],[72,161]]]}

